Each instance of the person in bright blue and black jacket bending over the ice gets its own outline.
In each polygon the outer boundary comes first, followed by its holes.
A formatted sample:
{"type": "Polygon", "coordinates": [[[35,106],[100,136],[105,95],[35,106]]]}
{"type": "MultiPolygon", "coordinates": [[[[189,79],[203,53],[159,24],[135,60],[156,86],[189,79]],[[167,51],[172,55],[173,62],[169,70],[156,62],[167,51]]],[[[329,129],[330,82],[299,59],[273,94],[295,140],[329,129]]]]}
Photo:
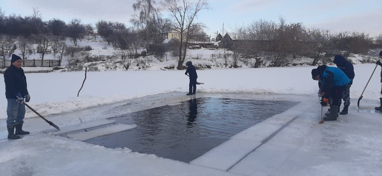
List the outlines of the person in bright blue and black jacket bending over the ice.
{"type": "Polygon", "coordinates": [[[312,69],[312,79],[319,80],[321,86],[325,86],[325,93],[323,94],[321,105],[326,106],[329,102],[329,98],[332,99],[330,113],[329,115],[325,114],[324,120],[337,120],[338,103],[340,102],[340,98],[342,98],[345,85],[350,83],[350,79],[341,69],[326,65],[320,65],[312,69]]]}

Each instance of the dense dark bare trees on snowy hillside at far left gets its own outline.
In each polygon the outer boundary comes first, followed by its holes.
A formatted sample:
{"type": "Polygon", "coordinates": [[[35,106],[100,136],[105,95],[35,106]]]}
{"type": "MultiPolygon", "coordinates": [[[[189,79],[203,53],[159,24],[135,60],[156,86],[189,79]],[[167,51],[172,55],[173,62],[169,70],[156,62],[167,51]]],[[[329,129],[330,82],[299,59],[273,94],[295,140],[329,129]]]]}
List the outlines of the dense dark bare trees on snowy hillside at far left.
{"type": "MultiPolygon", "coordinates": [[[[65,49],[62,40],[70,37],[74,45],[77,44],[77,39],[82,38],[89,26],[81,23],[80,19],[72,19],[68,24],[60,19],[50,19],[42,21],[41,12],[38,8],[33,8],[33,13],[30,16],[21,16],[11,14],[5,15],[5,12],[0,9],[0,40],[2,46],[13,45],[17,40],[18,48],[21,50],[23,57],[29,50],[37,50],[41,53],[42,60],[48,52],[63,53],[65,49]],[[37,48],[34,48],[37,44],[37,48]]],[[[1,48],[6,54],[9,50],[5,47],[1,48]]],[[[5,57],[5,56],[4,56],[5,57]]],[[[62,57],[62,55],[61,55],[62,57]]]]}

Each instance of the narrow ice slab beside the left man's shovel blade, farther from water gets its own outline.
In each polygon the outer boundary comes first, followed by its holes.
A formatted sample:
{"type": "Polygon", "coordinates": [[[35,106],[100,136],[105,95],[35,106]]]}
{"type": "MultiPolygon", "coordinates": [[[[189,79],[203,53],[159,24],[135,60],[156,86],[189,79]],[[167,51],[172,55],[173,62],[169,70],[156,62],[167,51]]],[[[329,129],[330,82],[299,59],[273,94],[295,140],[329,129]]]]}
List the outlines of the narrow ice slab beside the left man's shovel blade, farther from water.
{"type": "Polygon", "coordinates": [[[56,129],[48,129],[48,130],[44,130],[42,132],[50,133],[53,135],[59,135],[59,134],[65,134],[65,133],[72,132],[72,131],[92,128],[92,127],[106,125],[106,124],[112,124],[112,123],[115,123],[115,120],[113,120],[113,119],[110,119],[110,120],[100,119],[100,120],[94,120],[94,121],[74,124],[74,125],[70,125],[70,126],[63,126],[63,127],[60,127],[60,131],[56,131],[56,129]]]}

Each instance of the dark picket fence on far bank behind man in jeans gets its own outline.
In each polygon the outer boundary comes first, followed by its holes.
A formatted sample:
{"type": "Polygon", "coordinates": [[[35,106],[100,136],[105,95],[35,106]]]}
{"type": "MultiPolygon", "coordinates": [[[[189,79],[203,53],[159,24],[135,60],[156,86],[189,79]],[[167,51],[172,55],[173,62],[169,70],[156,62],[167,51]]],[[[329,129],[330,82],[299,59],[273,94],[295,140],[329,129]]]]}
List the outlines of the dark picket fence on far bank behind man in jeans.
{"type": "MultiPolygon", "coordinates": [[[[0,67],[6,68],[11,66],[10,59],[0,60],[0,67]]],[[[52,67],[52,66],[61,66],[61,60],[41,60],[41,59],[27,59],[23,60],[23,67],[52,67]]]]}

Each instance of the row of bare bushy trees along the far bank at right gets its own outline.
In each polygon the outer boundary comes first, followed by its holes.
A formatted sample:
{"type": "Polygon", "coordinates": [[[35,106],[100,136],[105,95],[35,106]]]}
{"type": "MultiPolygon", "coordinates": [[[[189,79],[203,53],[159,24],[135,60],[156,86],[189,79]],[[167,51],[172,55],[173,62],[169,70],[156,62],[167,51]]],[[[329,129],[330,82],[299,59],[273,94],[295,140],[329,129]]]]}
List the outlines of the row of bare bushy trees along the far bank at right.
{"type": "MultiPolygon", "coordinates": [[[[235,26],[230,34],[235,36],[235,43],[230,45],[234,52],[250,51],[256,57],[269,58],[274,66],[286,65],[297,56],[313,58],[311,65],[316,65],[325,55],[365,53],[372,40],[360,32],[331,34],[324,29],[306,28],[302,23],[286,24],[282,17],[278,23],[259,19],[247,26],[235,26]]],[[[226,45],[229,42],[223,39],[226,45]]]]}

